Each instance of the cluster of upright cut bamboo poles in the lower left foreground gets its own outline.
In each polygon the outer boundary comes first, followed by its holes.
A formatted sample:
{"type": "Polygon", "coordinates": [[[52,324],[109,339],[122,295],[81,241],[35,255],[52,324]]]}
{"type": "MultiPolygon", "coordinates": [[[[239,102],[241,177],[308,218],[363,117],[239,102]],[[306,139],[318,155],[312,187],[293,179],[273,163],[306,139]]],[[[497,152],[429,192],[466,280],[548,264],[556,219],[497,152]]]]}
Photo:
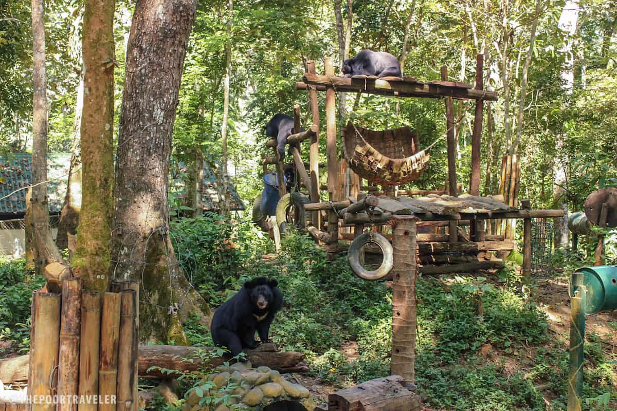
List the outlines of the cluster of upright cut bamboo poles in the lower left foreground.
{"type": "Polygon", "coordinates": [[[71,278],[62,295],[35,291],[28,410],[137,410],[139,283],[110,288],[101,297],[71,278]]]}

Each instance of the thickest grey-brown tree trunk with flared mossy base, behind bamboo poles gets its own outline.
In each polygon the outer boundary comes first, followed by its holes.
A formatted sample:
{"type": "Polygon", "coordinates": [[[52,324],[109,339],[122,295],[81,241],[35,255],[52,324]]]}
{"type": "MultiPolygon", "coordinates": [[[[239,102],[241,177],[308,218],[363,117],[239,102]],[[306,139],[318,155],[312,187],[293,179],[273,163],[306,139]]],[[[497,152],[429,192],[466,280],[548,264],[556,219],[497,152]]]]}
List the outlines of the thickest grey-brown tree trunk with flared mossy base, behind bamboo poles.
{"type": "Polygon", "coordinates": [[[141,282],[141,340],[167,338],[167,307],[174,303],[181,304],[181,319],[210,314],[184,277],[168,236],[173,122],[195,9],[196,0],[138,1],[126,52],[112,235],[118,261],[110,272],[141,282]]]}

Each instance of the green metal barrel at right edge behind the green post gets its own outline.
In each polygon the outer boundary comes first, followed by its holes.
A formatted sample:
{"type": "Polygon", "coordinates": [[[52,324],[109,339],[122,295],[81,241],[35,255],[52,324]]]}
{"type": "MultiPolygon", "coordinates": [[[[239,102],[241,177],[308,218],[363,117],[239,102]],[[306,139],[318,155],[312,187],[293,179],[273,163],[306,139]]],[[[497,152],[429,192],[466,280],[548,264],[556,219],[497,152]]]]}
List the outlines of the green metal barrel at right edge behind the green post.
{"type": "MultiPolygon", "coordinates": [[[[587,294],[585,314],[617,309],[617,266],[584,267],[576,272],[583,274],[587,294]]],[[[573,295],[574,286],[571,280],[570,295],[573,295]]]]}

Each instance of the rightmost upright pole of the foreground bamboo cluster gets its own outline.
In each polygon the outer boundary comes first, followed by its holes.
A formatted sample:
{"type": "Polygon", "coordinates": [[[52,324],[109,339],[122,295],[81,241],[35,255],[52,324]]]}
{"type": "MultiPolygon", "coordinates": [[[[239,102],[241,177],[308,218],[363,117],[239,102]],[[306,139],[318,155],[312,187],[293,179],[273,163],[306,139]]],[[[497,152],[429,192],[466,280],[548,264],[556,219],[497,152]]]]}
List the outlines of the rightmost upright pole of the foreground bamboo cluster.
{"type": "Polygon", "coordinates": [[[137,295],[135,290],[120,293],[120,337],[118,339],[117,410],[131,411],[137,399],[133,386],[137,369],[137,295]]]}

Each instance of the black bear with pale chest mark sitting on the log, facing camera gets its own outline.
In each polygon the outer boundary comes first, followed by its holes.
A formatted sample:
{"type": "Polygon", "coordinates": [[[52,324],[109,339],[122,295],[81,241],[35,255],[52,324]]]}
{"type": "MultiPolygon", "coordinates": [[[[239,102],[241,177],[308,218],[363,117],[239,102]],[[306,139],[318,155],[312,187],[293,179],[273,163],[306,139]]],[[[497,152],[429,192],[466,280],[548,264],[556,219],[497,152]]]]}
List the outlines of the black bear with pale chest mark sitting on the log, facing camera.
{"type": "Polygon", "coordinates": [[[277,285],[276,280],[265,277],[249,280],[218,307],[210,325],[214,344],[228,348],[235,357],[244,348],[257,348],[255,330],[262,343],[270,342],[270,324],[283,307],[283,293],[277,285]]]}

